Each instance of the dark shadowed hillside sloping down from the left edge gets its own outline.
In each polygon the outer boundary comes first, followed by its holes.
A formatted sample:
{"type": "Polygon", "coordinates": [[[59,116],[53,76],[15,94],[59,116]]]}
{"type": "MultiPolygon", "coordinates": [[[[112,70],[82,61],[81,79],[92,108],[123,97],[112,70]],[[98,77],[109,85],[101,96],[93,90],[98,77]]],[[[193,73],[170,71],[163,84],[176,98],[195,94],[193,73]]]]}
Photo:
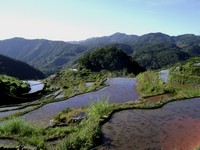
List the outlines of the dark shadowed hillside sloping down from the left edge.
{"type": "Polygon", "coordinates": [[[17,77],[19,79],[42,79],[44,74],[30,65],[0,55],[0,74],[17,77]]]}

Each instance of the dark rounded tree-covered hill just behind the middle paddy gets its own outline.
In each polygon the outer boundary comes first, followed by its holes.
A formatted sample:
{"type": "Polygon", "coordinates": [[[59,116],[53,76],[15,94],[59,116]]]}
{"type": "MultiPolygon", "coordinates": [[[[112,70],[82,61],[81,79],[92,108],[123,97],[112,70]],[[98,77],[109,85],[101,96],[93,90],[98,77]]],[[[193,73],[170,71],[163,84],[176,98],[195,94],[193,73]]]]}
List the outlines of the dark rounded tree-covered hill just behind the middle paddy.
{"type": "Polygon", "coordinates": [[[137,75],[145,71],[137,62],[116,47],[107,46],[97,48],[78,59],[80,68],[90,69],[91,71],[122,71],[137,75]]]}

